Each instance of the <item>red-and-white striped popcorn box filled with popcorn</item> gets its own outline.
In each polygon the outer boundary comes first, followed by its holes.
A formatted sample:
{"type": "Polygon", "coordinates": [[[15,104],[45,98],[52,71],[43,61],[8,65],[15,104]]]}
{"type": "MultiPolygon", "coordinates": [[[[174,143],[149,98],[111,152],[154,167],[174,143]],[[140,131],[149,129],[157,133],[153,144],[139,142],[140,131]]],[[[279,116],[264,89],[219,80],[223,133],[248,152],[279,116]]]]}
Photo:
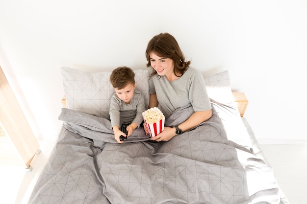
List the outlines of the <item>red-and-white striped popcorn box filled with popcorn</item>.
{"type": "Polygon", "coordinates": [[[165,116],[157,107],[144,111],[142,115],[144,124],[151,137],[158,135],[164,130],[165,116]]]}

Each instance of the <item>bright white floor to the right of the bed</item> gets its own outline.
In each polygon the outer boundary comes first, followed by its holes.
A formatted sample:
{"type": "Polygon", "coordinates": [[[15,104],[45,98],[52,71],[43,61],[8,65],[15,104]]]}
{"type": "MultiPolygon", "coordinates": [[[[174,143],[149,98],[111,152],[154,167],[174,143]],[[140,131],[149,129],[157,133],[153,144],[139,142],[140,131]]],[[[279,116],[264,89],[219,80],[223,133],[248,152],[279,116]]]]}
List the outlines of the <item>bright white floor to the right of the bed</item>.
{"type": "Polygon", "coordinates": [[[290,204],[307,204],[307,145],[260,144],[290,204]]]}

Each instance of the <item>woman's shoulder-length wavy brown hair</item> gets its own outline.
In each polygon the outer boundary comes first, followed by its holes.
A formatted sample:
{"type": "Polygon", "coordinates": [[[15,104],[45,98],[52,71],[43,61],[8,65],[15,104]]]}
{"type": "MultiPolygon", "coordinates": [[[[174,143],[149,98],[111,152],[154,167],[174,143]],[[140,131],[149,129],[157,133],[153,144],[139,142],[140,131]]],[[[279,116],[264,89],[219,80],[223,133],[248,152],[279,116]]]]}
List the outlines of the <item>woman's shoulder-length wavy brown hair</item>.
{"type": "MultiPolygon", "coordinates": [[[[181,51],[176,39],[169,33],[160,33],[154,36],[148,43],[146,48],[147,67],[151,66],[151,60],[149,54],[153,52],[159,57],[170,58],[174,62],[174,73],[180,73],[181,76],[184,71],[189,67],[191,61],[185,62],[185,57],[181,51]]],[[[153,69],[153,76],[156,71],[153,69]]]]}

